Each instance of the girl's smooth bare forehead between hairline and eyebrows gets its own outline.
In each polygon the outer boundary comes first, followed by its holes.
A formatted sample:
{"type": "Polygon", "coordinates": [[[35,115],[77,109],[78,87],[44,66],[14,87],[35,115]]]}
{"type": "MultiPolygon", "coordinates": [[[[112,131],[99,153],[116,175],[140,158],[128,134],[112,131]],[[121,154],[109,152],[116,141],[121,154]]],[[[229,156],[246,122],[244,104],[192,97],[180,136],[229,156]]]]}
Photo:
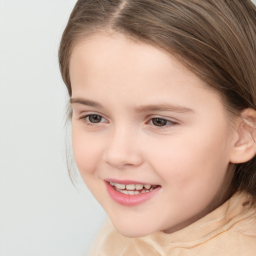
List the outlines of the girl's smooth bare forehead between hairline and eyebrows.
{"type": "Polygon", "coordinates": [[[96,91],[105,99],[115,92],[130,102],[143,95],[148,101],[157,97],[160,101],[164,96],[165,101],[171,99],[176,104],[175,93],[199,100],[200,91],[220,99],[172,54],[122,34],[97,33],[80,40],[71,53],[69,71],[72,97],[96,91]]]}

